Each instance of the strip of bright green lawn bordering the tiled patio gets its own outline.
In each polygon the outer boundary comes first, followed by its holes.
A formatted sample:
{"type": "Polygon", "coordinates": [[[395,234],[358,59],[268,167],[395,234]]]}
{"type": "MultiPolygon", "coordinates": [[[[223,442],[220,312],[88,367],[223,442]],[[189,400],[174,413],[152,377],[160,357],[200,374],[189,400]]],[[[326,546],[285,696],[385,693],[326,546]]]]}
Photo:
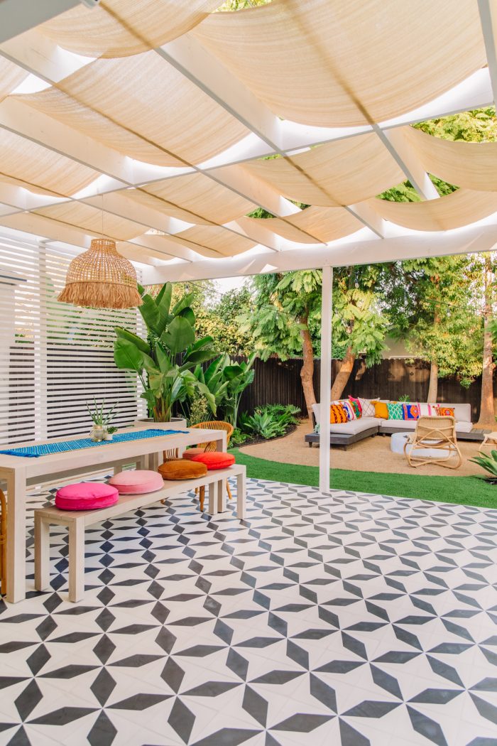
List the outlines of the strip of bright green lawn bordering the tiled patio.
{"type": "MultiPolygon", "coordinates": [[[[236,457],[237,463],[247,466],[247,477],[313,487],[319,483],[317,466],[266,461],[242,454],[238,448],[233,448],[230,453],[236,457]]],[[[400,498],[497,508],[497,485],[492,486],[475,477],[425,477],[420,474],[382,474],[334,468],[332,487],[352,492],[374,492],[400,498]]]]}

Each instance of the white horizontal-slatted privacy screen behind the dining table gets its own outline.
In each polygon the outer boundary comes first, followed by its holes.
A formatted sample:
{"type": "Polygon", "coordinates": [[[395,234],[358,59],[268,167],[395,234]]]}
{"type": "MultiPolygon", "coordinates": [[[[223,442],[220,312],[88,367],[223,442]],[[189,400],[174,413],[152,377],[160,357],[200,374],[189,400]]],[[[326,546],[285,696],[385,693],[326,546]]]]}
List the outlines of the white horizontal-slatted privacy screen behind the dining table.
{"type": "Polygon", "coordinates": [[[116,426],[145,416],[136,377],[113,362],[114,327],[136,310],[57,303],[74,254],[0,236],[0,443],[89,433],[86,402],[117,402],[116,426]]]}

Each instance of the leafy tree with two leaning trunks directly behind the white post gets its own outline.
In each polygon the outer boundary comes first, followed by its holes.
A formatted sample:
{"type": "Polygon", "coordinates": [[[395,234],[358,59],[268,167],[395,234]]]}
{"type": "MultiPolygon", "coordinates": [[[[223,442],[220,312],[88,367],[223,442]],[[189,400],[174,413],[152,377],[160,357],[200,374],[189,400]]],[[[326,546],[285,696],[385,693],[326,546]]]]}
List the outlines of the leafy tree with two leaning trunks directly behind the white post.
{"type": "MultiPolygon", "coordinates": [[[[384,349],[387,318],[374,291],[378,270],[372,267],[338,268],[334,273],[332,317],[333,355],[342,360],[332,386],[340,398],[355,358],[379,360],[384,349]]],[[[321,271],[317,269],[253,278],[253,310],[241,316],[242,330],[251,333],[263,360],[302,356],[300,371],[308,416],[314,393],[314,354],[320,351],[321,271]]]]}

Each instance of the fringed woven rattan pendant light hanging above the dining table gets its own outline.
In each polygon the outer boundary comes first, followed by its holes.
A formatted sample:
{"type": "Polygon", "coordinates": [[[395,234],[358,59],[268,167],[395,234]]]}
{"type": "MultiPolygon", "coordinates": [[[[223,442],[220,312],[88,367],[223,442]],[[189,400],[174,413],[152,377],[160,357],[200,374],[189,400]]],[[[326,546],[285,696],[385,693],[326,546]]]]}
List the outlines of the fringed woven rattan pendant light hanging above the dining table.
{"type": "Polygon", "coordinates": [[[115,241],[107,238],[92,239],[88,251],[72,260],[66,287],[57,300],[92,308],[142,305],[133,264],[121,257],[115,241]]]}

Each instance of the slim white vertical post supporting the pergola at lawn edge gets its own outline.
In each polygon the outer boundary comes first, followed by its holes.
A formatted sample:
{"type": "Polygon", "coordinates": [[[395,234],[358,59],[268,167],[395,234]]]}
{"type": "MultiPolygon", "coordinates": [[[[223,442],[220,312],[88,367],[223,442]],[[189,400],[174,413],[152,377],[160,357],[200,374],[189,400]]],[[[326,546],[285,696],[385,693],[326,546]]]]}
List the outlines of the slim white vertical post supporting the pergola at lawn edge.
{"type": "Polygon", "coordinates": [[[332,388],[332,267],[323,267],[321,287],[321,381],[320,381],[320,439],[319,489],[330,487],[329,404],[332,388]]]}

